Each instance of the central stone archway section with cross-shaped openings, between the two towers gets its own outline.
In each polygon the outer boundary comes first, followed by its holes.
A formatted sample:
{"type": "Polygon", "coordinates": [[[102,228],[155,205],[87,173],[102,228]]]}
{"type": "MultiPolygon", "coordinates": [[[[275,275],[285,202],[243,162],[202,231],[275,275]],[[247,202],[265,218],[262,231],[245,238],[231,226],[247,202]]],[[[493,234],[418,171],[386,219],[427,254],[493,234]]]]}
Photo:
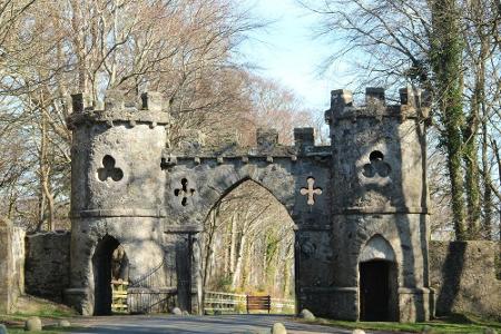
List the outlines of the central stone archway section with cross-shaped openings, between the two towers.
{"type": "Polygon", "coordinates": [[[313,129],[295,131],[295,146],[281,146],[276,138],[261,135],[256,148],[164,151],[160,166],[166,171],[166,239],[184,235],[186,246],[194,248],[191,276],[184,275],[183,279],[196,282],[197,294],[184,297],[179,292],[178,298],[191,298],[193,312],[200,312],[202,249],[197,240],[203,224],[222,197],[245,181],[254,181],[269,191],[294,222],[296,307],[326,315],[324,305],[332,298],[324,287],[334,281],[328,147],[311,148],[313,129]]]}

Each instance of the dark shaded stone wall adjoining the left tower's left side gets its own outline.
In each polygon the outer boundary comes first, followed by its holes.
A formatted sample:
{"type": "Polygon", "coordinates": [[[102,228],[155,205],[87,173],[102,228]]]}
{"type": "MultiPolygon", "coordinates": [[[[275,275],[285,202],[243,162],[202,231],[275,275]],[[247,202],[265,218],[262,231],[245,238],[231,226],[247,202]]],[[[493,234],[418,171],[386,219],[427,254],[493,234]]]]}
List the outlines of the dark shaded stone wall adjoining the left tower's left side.
{"type": "Polygon", "coordinates": [[[69,286],[69,232],[38,233],[26,237],[26,293],[62,302],[69,286]]]}

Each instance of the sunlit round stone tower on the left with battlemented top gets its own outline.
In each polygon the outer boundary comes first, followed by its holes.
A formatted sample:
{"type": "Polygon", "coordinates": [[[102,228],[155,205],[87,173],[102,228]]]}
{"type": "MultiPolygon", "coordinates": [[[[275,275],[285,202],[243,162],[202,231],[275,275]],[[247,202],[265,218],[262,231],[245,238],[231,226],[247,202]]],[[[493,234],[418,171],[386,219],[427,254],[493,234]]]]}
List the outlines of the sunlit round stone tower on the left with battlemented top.
{"type": "Polygon", "coordinates": [[[118,246],[127,257],[124,279],[130,282],[164,259],[165,173],[159,165],[169,116],[156,92],[136,100],[108,91],[104,108],[80,94],[72,105],[71,288],[66,297],[84,314],[107,314],[109,303],[102,301],[111,291],[109,283],[98,282],[109,279],[118,246]]]}

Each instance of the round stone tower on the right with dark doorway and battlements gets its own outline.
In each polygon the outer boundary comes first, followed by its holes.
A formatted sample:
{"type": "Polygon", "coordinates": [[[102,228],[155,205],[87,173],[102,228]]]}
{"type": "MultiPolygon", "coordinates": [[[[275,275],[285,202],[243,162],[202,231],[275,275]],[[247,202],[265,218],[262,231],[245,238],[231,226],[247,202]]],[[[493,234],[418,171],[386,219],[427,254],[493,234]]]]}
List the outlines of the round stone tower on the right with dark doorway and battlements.
{"type": "Polygon", "coordinates": [[[325,118],[332,138],[334,282],[338,318],[401,322],[430,317],[425,120],[412,89],[389,106],[366,89],[356,107],[332,91],[325,118]]]}

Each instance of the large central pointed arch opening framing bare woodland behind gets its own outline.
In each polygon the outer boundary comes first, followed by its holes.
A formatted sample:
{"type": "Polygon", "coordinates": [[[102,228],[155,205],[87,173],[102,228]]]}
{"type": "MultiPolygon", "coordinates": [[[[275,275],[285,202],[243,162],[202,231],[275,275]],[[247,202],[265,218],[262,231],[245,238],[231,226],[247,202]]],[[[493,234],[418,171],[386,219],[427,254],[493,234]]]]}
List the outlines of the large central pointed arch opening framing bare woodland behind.
{"type": "Polygon", "coordinates": [[[269,295],[289,301],[274,311],[295,311],[294,222],[267,188],[243,179],[224,193],[204,226],[203,291],[269,295]]]}

